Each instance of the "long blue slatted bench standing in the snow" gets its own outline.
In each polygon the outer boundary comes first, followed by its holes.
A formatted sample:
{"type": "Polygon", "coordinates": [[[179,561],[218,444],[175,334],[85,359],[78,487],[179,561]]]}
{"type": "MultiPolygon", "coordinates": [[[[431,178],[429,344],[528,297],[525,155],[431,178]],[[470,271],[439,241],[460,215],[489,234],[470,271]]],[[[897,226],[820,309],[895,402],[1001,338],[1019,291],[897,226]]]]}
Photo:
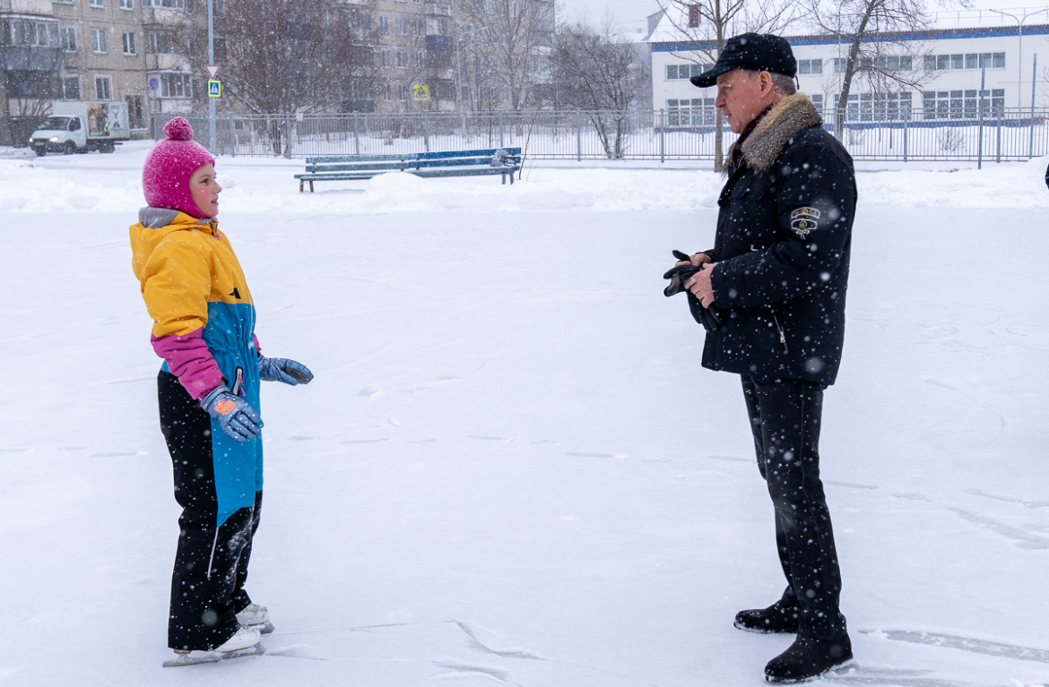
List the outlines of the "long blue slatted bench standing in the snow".
{"type": "Polygon", "coordinates": [[[510,177],[514,183],[514,173],[521,169],[521,149],[493,148],[476,151],[454,151],[450,153],[409,153],[405,155],[334,155],[328,157],[307,157],[305,174],[296,174],[299,193],[309,182],[309,193],[314,192],[314,181],[352,181],[370,179],[383,172],[408,172],[420,177],[466,177],[498,174],[502,183],[510,177]]]}

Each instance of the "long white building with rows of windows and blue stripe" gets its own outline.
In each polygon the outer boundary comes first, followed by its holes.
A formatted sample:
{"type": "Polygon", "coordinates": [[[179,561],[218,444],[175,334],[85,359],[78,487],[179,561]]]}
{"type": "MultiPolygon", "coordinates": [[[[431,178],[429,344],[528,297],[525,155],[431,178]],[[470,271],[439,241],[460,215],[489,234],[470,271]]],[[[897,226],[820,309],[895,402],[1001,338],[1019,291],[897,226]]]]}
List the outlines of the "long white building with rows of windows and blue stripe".
{"type": "MultiPolygon", "coordinates": [[[[850,120],[897,118],[909,110],[921,119],[969,119],[979,112],[981,74],[985,73],[985,116],[1002,111],[1015,116],[1015,108],[1030,111],[1049,107],[1049,7],[1005,10],[1019,20],[989,10],[939,13],[933,28],[894,41],[903,47],[885,56],[886,66],[915,75],[917,88],[895,87],[878,92],[862,73],[853,80],[849,94],[850,120]],[[1039,22],[1039,23],[1034,23],[1039,22]],[[1009,25],[1011,24],[1011,25],[1009,25]],[[1034,73],[1037,61],[1037,74],[1034,73]],[[982,68],[986,68],[985,70],[982,68]]],[[[652,104],[665,110],[669,126],[712,124],[715,88],[695,88],[688,77],[712,62],[699,48],[709,43],[683,40],[683,32],[662,17],[648,38],[652,65],[652,104]]],[[[828,36],[784,36],[798,61],[800,90],[817,107],[835,107],[841,92],[848,45],[828,36]]]]}

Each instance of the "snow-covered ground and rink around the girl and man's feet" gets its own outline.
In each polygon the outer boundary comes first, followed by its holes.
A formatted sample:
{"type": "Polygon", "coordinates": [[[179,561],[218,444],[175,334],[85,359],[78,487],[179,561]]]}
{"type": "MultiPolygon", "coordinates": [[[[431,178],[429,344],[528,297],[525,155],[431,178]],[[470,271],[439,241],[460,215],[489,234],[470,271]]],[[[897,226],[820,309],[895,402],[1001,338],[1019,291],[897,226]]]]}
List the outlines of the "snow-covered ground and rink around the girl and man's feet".
{"type": "MultiPolygon", "coordinates": [[[[662,295],[719,178],[318,184],[221,159],[271,355],[260,658],[163,669],[177,535],[127,226],[145,148],[0,159],[0,685],[764,684],[782,591],[738,382],[662,295]]],[[[1049,684],[1047,160],[864,172],[823,477],[857,661],[1049,684]],[[925,168],[932,170],[933,168],[925,168]]]]}

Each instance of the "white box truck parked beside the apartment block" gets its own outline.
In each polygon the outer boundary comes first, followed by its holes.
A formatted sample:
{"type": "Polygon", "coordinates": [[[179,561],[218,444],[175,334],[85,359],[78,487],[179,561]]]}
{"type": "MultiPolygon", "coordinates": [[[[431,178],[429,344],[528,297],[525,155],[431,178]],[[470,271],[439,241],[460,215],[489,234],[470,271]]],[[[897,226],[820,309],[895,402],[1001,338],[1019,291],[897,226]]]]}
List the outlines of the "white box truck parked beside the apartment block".
{"type": "Polygon", "coordinates": [[[33,132],[29,147],[37,155],[112,153],[130,137],[125,103],[56,103],[51,116],[33,132]]]}

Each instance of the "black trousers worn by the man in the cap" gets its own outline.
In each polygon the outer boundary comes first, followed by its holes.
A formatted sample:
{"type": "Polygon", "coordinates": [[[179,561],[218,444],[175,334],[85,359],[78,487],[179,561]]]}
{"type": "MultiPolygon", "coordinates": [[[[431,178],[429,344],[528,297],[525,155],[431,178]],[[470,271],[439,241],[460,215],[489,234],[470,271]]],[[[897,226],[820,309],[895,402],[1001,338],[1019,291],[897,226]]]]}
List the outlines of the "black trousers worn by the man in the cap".
{"type": "Polygon", "coordinates": [[[831,514],[819,481],[823,386],[799,379],[743,377],[757,468],[772,496],[783,601],[800,611],[799,634],[819,640],[845,634],[838,610],[841,572],[831,514]]]}

